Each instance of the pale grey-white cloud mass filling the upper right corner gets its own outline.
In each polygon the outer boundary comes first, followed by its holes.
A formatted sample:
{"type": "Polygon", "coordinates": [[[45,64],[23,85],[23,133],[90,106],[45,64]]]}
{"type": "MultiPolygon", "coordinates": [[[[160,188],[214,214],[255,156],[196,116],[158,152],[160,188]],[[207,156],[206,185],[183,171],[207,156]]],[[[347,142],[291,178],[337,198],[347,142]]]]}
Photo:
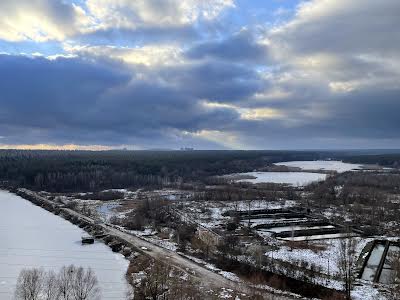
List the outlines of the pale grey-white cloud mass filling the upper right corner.
{"type": "Polygon", "coordinates": [[[324,102],[330,93],[399,88],[398,11],[397,0],[302,2],[291,20],[266,30],[277,66],[270,89],[324,102]]]}

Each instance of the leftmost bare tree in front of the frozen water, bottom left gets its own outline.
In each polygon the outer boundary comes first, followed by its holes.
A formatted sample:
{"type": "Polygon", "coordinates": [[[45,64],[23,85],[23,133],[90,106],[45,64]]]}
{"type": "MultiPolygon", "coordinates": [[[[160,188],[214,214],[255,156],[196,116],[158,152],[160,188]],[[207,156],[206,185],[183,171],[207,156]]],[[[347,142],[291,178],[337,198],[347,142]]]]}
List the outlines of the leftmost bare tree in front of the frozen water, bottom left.
{"type": "Polygon", "coordinates": [[[23,269],[18,276],[15,299],[39,300],[43,290],[43,277],[42,269],[23,269]]]}

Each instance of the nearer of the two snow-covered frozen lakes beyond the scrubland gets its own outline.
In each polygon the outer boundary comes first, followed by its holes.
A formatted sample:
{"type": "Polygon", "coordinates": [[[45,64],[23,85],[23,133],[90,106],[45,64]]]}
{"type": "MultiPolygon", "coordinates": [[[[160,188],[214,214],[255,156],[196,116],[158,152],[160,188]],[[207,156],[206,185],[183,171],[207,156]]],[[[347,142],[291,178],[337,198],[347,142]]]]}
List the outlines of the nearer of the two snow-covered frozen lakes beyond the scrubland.
{"type": "Polygon", "coordinates": [[[309,172],[248,172],[238,173],[237,175],[253,177],[250,179],[239,179],[238,182],[282,183],[294,186],[303,186],[311,182],[326,179],[326,174],[309,172]]]}

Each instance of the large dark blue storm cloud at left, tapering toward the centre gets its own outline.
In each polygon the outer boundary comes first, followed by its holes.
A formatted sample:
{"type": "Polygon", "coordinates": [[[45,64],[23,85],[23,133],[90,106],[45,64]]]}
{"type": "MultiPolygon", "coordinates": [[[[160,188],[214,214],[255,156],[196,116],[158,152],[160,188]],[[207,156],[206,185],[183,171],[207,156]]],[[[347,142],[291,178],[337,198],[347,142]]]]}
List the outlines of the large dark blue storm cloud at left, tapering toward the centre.
{"type": "Polygon", "coordinates": [[[76,58],[2,55],[0,90],[2,143],[124,144],[238,117],[210,110],[179,88],[135,80],[122,66],[76,58]]]}

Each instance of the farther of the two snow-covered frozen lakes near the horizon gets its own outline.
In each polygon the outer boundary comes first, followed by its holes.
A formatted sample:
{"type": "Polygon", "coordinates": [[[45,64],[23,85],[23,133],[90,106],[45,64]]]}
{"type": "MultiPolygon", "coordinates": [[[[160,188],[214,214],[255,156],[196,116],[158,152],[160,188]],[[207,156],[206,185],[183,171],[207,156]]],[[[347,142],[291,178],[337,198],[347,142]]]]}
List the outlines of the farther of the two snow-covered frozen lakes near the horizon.
{"type": "Polygon", "coordinates": [[[276,163],[277,166],[296,167],[302,170],[324,170],[343,173],[351,170],[359,170],[362,166],[344,163],[336,160],[314,160],[314,161],[287,161],[276,163]]]}

